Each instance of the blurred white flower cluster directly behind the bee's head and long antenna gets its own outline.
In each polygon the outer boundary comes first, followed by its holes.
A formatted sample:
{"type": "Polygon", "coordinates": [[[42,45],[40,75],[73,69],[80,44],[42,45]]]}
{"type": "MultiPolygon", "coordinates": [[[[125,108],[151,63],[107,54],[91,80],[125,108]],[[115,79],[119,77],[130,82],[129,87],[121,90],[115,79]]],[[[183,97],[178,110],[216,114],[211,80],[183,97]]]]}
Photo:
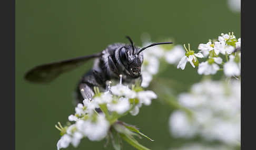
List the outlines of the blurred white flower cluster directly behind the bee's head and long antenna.
{"type": "MultiPolygon", "coordinates": [[[[152,44],[151,41],[144,41],[142,46],[152,44]]],[[[160,61],[165,60],[169,64],[176,64],[181,57],[185,54],[185,50],[181,45],[176,46],[154,46],[147,48],[143,51],[143,64],[142,64],[142,84],[146,88],[149,86],[153,75],[159,71],[160,61]]]]}

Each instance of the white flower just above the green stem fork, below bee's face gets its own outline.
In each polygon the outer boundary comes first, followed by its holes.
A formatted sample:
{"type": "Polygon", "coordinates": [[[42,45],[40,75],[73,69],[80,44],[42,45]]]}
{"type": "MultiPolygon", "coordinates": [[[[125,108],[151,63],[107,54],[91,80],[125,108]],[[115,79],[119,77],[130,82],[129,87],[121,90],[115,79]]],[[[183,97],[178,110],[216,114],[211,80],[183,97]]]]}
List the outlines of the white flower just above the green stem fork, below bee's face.
{"type": "Polygon", "coordinates": [[[112,103],[108,103],[107,109],[112,112],[115,111],[119,114],[123,114],[130,109],[130,101],[128,98],[120,98],[117,101],[112,101],[112,103]]]}

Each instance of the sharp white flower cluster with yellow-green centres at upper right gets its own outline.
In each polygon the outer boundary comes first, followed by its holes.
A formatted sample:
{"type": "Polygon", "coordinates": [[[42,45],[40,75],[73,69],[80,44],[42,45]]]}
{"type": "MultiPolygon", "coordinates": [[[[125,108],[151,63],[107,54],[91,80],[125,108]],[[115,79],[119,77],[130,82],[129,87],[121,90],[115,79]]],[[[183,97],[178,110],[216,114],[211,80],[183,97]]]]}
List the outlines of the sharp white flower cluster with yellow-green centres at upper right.
{"type": "Polygon", "coordinates": [[[238,77],[241,72],[240,47],[241,38],[235,38],[233,32],[232,34],[221,34],[218,41],[212,42],[212,40],[209,40],[206,44],[200,44],[198,47],[199,53],[190,50],[190,45],[189,49],[185,47],[185,56],[181,58],[177,68],[184,70],[186,62],[189,61],[194,68],[198,66],[199,74],[209,75],[223,70],[227,77],[238,77]],[[222,57],[226,57],[226,62],[223,62],[222,57]],[[207,58],[207,60],[199,63],[197,58],[207,58]],[[220,66],[223,66],[223,68],[220,68],[220,66]]]}

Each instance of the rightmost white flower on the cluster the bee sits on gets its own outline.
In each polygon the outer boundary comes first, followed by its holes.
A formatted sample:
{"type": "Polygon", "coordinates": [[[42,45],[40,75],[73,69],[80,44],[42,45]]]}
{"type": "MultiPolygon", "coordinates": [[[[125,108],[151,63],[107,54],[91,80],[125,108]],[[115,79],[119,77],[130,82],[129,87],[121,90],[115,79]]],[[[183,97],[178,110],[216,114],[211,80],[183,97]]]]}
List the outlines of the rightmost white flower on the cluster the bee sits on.
{"type": "Polygon", "coordinates": [[[140,103],[150,105],[151,99],[156,99],[157,95],[153,91],[140,91],[137,92],[137,98],[140,100],[140,103]]]}

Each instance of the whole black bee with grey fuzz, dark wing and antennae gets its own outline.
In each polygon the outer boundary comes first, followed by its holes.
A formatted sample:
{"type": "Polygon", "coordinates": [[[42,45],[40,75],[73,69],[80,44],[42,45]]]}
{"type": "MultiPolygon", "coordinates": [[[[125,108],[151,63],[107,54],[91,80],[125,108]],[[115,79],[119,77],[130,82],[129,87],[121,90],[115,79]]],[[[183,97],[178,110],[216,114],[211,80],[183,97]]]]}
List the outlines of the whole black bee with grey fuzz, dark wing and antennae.
{"type": "Polygon", "coordinates": [[[112,82],[119,80],[120,74],[122,74],[124,84],[131,85],[135,84],[136,81],[141,83],[142,51],[155,45],[172,44],[172,42],[159,42],[139,48],[133,45],[130,37],[126,36],[126,38],[130,40],[131,44],[115,43],[94,55],[36,66],[25,74],[25,79],[37,83],[51,82],[61,73],[70,71],[87,60],[95,58],[93,68],[85,73],[78,82],[77,102],[81,103],[84,99],[92,99],[94,87],[104,90],[110,80],[112,82]]]}

